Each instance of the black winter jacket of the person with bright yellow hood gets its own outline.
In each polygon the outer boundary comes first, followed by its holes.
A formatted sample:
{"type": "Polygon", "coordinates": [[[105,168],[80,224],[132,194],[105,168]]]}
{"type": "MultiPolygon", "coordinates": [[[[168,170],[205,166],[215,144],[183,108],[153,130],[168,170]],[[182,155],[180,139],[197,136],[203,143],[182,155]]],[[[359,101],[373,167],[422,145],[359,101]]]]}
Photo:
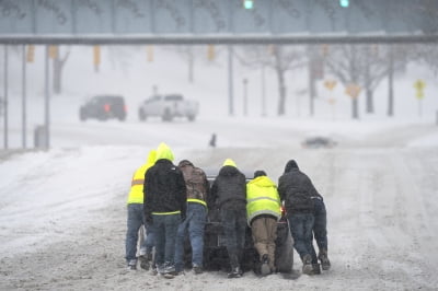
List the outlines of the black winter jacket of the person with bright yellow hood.
{"type": "Polygon", "coordinates": [[[146,172],[143,191],[147,222],[152,222],[152,213],[181,211],[181,217],[185,218],[187,194],[184,176],[171,161],[158,160],[146,172]]]}

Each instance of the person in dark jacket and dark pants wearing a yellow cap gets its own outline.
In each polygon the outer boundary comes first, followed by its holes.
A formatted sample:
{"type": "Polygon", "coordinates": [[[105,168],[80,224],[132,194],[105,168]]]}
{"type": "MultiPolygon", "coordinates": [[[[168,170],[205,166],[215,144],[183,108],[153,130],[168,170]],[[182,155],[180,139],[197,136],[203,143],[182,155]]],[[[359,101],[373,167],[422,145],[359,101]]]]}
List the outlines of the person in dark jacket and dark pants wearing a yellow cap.
{"type": "Polygon", "coordinates": [[[242,277],[241,269],[246,232],[246,178],[234,161],[227,159],[211,186],[210,207],[219,208],[230,258],[228,278],[242,277]]]}

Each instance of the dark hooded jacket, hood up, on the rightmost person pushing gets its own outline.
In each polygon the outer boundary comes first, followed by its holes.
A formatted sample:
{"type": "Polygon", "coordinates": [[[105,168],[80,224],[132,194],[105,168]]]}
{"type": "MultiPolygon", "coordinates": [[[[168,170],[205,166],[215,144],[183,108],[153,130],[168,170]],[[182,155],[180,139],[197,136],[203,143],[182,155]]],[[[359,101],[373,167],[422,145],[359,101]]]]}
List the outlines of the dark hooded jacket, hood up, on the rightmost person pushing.
{"type": "Polygon", "coordinates": [[[278,179],[278,194],[280,200],[285,201],[288,214],[312,213],[312,198],[320,196],[312,181],[299,170],[293,160],[286,164],[285,173],[278,179]]]}

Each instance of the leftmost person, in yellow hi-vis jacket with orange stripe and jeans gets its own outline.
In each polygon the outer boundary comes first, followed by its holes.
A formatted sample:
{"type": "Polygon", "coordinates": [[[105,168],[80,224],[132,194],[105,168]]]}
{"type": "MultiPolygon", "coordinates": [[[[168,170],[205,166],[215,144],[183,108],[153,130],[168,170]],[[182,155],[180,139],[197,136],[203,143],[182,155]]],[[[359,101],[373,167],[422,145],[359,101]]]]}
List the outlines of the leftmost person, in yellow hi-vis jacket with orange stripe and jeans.
{"type": "MultiPolygon", "coordinates": [[[[128,220],[126,232],[126,261],[128,269],[137,269],[137,241],[138,231],[145,224],[143,217],[143,185],[145,174],[149,167],[155,163],[157,151],[151,150],[148,154],[148,160],[139,168],[134,172],[128,196],[128,220]]],[[[149,269],[149,261],[152,259],[153,237],[150,228],[145,224],[147,237],[143,240],[143,245],[140,246],[141,268],[149,269]]]]}

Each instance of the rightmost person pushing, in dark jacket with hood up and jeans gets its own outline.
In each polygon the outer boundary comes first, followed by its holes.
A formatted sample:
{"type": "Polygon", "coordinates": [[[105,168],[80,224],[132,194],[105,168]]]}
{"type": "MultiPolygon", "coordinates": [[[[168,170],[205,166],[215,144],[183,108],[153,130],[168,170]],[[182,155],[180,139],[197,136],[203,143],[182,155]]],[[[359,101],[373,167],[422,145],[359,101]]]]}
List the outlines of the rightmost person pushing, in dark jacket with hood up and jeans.
{"type": "Polygon", "coordinates": [[[287,162],[285,172],[279,177],[278,193],[280,199],[285,201],[286,214],[295,242],[293,247],[302,260],[302,272],[312,275],[313,265],[318,264],[312,244],[313,185],[310,178],[298,168],[295,160],[287,162]]]}

